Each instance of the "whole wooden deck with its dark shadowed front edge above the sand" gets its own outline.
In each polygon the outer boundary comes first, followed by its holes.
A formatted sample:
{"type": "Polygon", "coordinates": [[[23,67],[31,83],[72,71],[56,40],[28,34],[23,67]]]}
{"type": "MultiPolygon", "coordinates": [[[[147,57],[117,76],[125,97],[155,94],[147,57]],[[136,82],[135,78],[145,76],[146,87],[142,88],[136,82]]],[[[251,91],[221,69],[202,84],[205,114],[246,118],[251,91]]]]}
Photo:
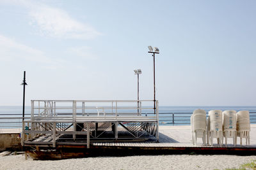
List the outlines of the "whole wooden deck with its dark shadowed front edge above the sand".
{"type": "MultiPolygon", "coordinates": [[[[202,140],[198,138],[198,145],[191,142],[190,126],[160,126],[159,143],[150,139],[144,142],[92,142],[90,149],[86,148],[86,143],[70,145],[70,143],[59,143],[56,148],[40,150],[40,147],[26,146],[24,149],[33,159],[68,159],[74,157],[102,156],[102,155],[159,155],[159,154],[236,154],[255,155],[256,154],[256,125],[251,125],[250,145],[240,145],[237,138],[237,145],[234,146],[232,139],[228,139],[228,145],[217,145],[214,139],[213,146],[203,146],[202,140]],[[52,152],[55,150],[55,152],[52,152]]],[[[45,136],[45,139],[49,139],[45,136]]]]}

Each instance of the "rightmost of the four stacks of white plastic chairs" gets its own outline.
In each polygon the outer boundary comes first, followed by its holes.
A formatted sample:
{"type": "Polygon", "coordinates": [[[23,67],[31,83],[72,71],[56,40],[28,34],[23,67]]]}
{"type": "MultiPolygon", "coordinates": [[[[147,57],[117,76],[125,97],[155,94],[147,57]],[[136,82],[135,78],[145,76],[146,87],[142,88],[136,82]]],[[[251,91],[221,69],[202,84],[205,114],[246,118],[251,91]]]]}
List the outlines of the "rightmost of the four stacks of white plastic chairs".
{"type": "Polygon", "coordinates": [[[249,111],[243,110],[236,114],[237,118],[237,136],[240,137],[240,144],[242,145],[242,138],[246,138],[246,145],[250,145],[250,115],[249,111]]]}

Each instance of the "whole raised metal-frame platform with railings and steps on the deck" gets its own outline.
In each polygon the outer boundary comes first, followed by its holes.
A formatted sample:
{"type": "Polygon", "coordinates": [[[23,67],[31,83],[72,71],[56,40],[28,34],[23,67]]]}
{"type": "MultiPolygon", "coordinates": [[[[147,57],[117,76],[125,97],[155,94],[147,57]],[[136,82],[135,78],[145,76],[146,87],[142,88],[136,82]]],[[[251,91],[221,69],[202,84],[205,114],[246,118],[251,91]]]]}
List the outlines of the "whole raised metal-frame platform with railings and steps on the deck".
{"type": "Polygon", "coordinates": [[[150,100],[33,100],[31,120],[22,122],[22,146],[87,145],[93,141],[159,140],[150,100]],[[138,102],[140,103],[138,114],[138,102]],[[26,136],[26,140],[25,140],[26,136]]]}

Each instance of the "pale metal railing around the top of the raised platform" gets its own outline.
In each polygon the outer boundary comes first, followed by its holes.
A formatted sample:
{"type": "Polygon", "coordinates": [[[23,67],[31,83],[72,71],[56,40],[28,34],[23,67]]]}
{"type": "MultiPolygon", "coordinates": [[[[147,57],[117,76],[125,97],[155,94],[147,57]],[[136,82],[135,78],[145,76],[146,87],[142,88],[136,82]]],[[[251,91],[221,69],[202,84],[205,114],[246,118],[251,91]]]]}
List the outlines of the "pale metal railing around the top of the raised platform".
{"type": "MultiPolygon", "coordinates": [[[[77,116],[141,117],[143,116],[142,111],[154,110],[145,104],[153,102],[152,100],[32,100],[31,120],[72,117],[75,121],[77,116]]],[[[158,107],[156,110],[156,114],[152,115],[152,118],[157,118],[158,107]]]]}

